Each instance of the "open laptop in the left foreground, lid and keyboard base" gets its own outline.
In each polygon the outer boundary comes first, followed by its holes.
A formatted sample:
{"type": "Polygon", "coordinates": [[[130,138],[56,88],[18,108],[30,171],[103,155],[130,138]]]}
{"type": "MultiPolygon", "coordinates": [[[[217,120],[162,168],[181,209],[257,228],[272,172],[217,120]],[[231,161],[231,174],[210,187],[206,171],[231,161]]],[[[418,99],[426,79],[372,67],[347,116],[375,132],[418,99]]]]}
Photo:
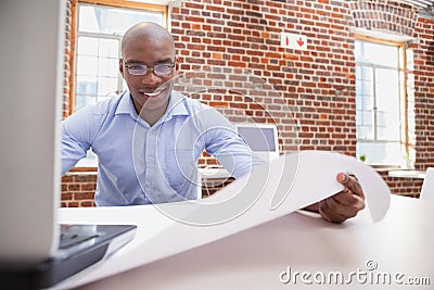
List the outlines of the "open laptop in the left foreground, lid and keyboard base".
{"type": "Polygon", "coordinates": [[[126,244],[136,226],[59,225],[65,1],[0,7],[0,289],[50,288],[126,244]]]}

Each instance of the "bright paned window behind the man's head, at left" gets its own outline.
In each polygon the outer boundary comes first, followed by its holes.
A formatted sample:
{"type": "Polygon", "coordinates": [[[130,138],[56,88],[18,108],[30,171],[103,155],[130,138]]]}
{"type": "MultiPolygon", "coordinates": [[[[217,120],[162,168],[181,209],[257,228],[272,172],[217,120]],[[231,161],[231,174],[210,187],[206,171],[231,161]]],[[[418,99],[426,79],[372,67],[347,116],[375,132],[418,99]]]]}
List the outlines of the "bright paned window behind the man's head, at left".
{"type": "MultiPolygon", "coordinates": [[[[143,21],[166,26],[167,8],[127,1],[78,1],[75,5],[75,48],[72,55],[69,114],[98,101],[120,93],[126,84],[119,74],[118,60],[124,33],[143,21]]],[[[78,167],[95,167],[91,152],[78,167]]]]}

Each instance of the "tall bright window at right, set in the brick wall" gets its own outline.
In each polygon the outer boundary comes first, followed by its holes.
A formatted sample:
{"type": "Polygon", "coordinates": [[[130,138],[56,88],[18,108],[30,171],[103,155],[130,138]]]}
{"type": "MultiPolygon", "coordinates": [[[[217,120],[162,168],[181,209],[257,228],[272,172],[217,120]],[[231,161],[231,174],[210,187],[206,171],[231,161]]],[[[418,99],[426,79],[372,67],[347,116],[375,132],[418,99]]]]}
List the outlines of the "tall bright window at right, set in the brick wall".
{"type": "Polygon", "coordinates": [[[357,39],[355,59],[357,155],[373,165],[404,165],[409,152],[404,45],[357,39]]]}

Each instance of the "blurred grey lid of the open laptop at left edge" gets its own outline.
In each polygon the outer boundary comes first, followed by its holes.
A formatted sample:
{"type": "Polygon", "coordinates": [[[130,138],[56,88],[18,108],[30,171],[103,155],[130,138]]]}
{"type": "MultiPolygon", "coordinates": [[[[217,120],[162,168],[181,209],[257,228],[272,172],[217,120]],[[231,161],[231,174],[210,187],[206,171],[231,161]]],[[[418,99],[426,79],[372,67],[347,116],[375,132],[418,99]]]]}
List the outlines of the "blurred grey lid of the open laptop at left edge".
{"type": "Polygon", "coordinates": [[[60,0],[1,2],[1,261],[58,249],[65,12],[60,0]]]}

